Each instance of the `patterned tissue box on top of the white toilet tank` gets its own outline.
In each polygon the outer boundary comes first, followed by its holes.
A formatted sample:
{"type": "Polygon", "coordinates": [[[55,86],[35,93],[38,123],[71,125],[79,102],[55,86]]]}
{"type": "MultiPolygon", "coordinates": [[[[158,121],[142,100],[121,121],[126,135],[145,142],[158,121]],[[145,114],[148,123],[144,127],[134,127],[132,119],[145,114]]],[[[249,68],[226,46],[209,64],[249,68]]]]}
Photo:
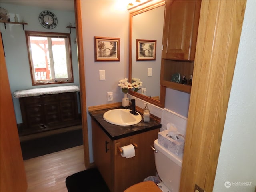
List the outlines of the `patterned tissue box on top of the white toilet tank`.
{"type": "Polygon", "coordinates": [[[167,134],[168,130],[158,132],[158,143],[176,155],[183,154],[184,138],[180,136],[178,140],[174,140],[167,134]]]}

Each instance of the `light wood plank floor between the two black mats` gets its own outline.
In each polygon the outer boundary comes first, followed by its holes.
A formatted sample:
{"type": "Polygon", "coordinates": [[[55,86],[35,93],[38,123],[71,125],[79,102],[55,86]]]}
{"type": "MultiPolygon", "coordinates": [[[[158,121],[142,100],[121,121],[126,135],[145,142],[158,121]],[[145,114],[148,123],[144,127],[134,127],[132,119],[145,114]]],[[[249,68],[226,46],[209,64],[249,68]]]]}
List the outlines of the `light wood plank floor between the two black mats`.
{"type": "Polygon", "coordinates": [[[66,177],[85,170],[83,146],[24,161],[27,192],[68,192],[66,177]]]}

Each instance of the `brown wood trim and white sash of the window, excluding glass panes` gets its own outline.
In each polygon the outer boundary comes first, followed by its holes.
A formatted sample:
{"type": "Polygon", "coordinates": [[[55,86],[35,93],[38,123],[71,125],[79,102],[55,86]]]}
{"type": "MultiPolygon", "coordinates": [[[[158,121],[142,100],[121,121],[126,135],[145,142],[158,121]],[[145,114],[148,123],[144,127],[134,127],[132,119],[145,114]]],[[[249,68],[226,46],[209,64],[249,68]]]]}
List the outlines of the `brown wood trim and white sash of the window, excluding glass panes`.
{"type": "Polygon", "coordinates": [[[32,79],[32,85],[47,85],[47,84],[61,84],[61,83],[73,83],[73,68],[72,68],[72,54],[71,54],[71,41],[70,41],[70,34],[69,33],[53,33],[53,32],[37,32],[37,31],[25,31],[26,35],[26,42],[27,42],[27,48],[28,48],[28,60],[30,64],[30,74],[32,79]],[[51,79],[46,80],[36,80],[35,77],[35,70],[34,70],[34,64],[32,59],[32,48],[30,43],[30,36],[41,36],[41,37],[47,37],[48,38],[48,49],[49,49],[49,55],[50,55],[50,66],[51,66],[51,79]],[[49,41],[50,38],[64,38],[65,39],[65,46],[66,46],[66,61],[67,61],[67,71],[68,71],[68,78],[55,78],[54,73],[54,64],[52,60],[52,45],[51,41],[49,41]],[[56,81],[57,80],[57,81],[56,81]]]}

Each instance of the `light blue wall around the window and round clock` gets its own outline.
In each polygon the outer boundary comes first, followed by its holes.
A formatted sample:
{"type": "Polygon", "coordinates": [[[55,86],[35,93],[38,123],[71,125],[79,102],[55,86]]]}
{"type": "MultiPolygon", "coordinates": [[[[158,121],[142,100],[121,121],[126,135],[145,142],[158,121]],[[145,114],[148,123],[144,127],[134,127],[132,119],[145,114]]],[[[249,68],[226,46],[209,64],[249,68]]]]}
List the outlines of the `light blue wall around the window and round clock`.
{"type": "MultiPolygon", "coordinates": [[[[28,6],[14,6],[12,4],[3,4],[1,7],[8,10],[10,13],[11,21],[14,21],[14,14],[17,14],[19,22],[28,23],[24,26],[25,30],[28,31],[43,31],[43,32],[61,32],[69,33],[69,29],[66,28],[71,22],[75,26],[75,14],[74,12],[65,12],[59,10],[50,10],[58,18],[58,24],[56,28],[52,30],[45,29],[41,26],[38,21],[38,16],[43,10],[36,7],[28,6]]],[[[9,76],[10,88],[13,93],[16,90],[31,89],[31,88],[42,88],[50,86],[61,86],[56,85],[41,85],[32,86],[30,68],[28,62],[28,52],[26,46],[25,32],[22,29],[22,25],[6,24],[6,30],[4,24],[1,23],[1,33],[3,38],[6,66],[9,76]]],[[[74,83],[63,84],[66,85],[78,85],[79,86],[79,72],[78,72],[78,59],[77,59],[77,47],[74,43],[76,38],[76,30],[71,31],[71,50],[72,50],[72,64],[73,64],[73,75],[74,83]]],[[[22,117],[20,112],[20,104],[18,98],[13,98],[14,110],[16,114],[17,123],[22,123],[22,117]]]]}

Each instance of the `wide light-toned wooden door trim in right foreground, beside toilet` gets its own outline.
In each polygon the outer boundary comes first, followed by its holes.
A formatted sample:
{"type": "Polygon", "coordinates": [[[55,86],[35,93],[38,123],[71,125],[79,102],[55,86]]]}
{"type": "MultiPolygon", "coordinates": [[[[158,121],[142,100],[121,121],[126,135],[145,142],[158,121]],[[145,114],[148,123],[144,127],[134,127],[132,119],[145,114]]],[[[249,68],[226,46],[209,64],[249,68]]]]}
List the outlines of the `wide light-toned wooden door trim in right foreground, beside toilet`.
{"type": "Polygon", "coordinates": [[[180,192],[213,190],[245,6],[202,1],[180,192]]]}

